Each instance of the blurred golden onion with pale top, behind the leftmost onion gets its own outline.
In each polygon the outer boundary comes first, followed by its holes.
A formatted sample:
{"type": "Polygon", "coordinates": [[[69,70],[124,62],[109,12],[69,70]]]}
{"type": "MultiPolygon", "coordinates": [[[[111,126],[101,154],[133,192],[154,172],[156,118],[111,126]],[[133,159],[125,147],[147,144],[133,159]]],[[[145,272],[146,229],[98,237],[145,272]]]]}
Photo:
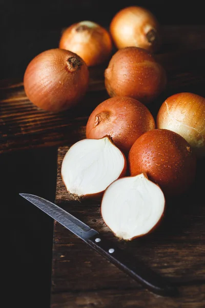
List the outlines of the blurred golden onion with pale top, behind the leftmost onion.
{"type": "Polygon", "coordinates": [[[96,23],[84,21],[67,28],[59,42],[59,48],[78,54],[88,66],[106,61],[112,51],[109,32],[96,23]]]}

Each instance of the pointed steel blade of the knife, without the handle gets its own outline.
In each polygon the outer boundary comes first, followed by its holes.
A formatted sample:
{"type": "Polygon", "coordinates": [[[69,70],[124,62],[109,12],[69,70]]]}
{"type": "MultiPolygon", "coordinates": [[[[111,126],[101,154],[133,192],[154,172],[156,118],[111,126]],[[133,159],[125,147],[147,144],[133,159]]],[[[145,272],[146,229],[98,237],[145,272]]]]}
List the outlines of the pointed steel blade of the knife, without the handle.
{"type": "Polygon", "coordinates": [[[91,229],[88,225],[65,211],[63,208],[44,198],[30,194],[19,195],[30,201],[32,204],[34,204],[41,210],[43,210],[46,214],[48,214],[61,225],[69,229],[72,233],[80,237],[82,240],[88,240],[89,238],[99,234],[96,230],[91,229]]]}

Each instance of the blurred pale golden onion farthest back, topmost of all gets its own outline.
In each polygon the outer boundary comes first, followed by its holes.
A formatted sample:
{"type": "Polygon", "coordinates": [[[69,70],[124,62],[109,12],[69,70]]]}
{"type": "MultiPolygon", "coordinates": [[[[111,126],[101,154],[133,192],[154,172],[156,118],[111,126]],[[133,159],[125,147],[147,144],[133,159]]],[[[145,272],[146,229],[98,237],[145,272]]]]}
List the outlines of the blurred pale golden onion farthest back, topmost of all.
{"type": "Polygon", "coordinates": [[[122,9],[114,17],[110,32],[117,48],[140,47],[155,52],[161,44],[159,23],[145,8],[122,9]]]}

